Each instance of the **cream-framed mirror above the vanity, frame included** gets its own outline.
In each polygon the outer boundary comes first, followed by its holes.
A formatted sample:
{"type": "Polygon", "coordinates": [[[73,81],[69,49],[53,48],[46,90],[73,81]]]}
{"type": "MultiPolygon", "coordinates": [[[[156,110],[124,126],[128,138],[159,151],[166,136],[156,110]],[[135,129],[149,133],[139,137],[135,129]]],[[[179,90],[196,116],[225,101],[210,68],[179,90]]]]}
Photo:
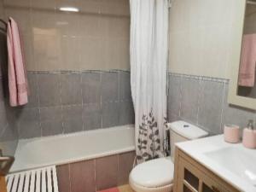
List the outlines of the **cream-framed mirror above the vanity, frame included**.
{"type": "Polygon", "coordinates": [[[228,102],[256,110],[256,0],[242,0],[232,32],[228,102]]]}

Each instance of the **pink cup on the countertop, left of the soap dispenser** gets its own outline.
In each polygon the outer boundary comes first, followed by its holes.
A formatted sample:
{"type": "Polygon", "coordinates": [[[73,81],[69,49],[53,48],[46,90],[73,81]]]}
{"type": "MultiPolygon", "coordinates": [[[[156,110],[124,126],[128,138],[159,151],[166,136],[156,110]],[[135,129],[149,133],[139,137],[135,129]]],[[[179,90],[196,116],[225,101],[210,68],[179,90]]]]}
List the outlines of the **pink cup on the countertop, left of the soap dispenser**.
{"type": "Polygon", "coordinates": [[[224,141],[227,143],[240,142],[240,129],[238,125],[224,125],[224,141]]]}

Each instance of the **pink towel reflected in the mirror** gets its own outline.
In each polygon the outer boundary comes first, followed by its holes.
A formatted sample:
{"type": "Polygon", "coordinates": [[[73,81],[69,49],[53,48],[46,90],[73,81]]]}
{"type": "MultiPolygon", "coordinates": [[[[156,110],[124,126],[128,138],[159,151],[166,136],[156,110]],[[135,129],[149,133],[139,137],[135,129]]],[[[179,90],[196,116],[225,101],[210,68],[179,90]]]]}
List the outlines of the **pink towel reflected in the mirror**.
{"type": "Polygon", "coordinates": [[[256,64],[256,34],[243,36],[241,45],[241,64],[238,84],[246,87],[254,86],[256,64]]]}

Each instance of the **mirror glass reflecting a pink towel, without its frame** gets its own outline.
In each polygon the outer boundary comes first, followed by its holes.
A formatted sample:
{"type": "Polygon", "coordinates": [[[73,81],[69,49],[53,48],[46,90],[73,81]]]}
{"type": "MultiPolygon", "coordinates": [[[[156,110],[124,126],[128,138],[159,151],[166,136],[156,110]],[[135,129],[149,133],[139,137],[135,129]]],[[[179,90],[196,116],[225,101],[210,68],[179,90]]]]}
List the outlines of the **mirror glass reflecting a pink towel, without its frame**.
{"type": "Polygon", "coordinates": [[[237,94],[256,98],[256,0],[246,5],[237,94]]]}

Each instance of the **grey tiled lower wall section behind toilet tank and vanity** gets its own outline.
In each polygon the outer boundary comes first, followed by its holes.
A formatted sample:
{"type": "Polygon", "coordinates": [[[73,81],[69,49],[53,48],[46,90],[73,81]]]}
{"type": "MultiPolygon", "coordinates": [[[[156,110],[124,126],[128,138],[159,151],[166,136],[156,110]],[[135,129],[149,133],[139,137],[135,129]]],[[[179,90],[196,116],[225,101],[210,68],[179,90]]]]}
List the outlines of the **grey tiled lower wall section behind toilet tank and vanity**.
{"type": "Polygon", "coordinates": [[[187,120],[210,134],[223,132],[224,124],[244,128],[255,111],[230,106],[229,80],[169,73],[168,118],[187,120]]]}

